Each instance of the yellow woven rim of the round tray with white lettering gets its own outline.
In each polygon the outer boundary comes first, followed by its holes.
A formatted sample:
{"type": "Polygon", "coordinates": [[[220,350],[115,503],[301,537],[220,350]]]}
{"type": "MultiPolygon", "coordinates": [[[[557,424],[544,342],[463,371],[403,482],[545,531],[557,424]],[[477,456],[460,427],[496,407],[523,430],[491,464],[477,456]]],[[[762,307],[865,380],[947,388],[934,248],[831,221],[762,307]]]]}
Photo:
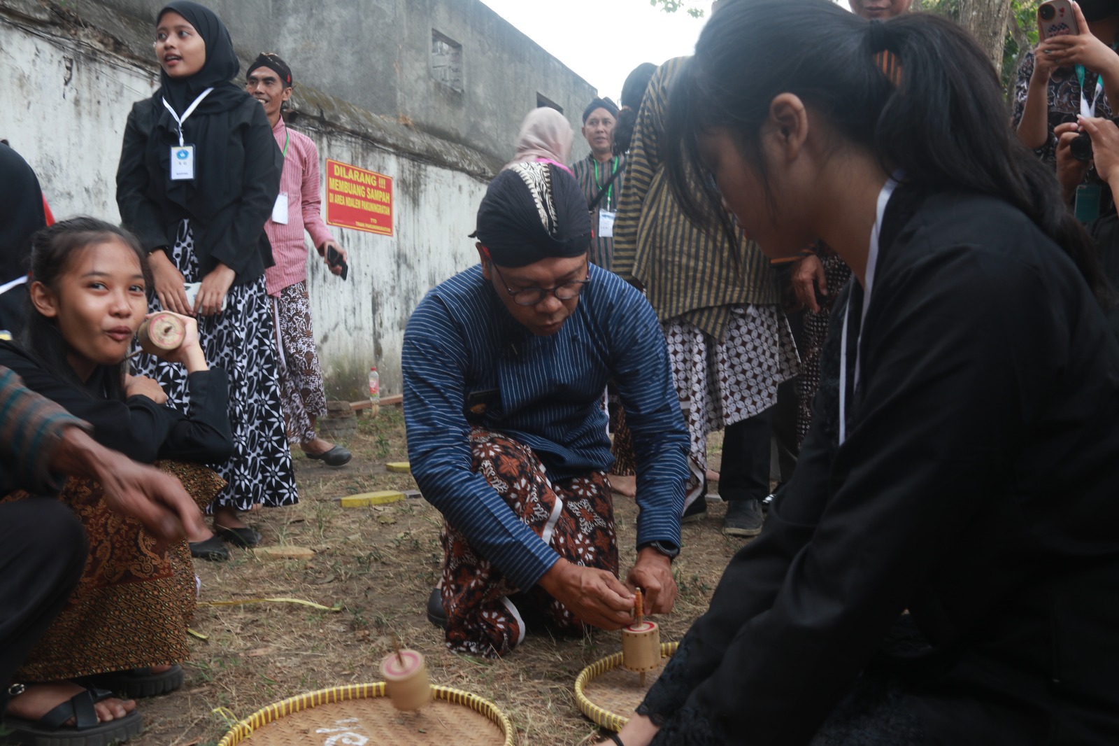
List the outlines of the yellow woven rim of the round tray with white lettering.
{"type": "MultiPolygon", "coordinates": [[[[311,708],[318,707],[319,705],[329,705],[331,702],[344,702],[346,700],[352,699],[369,699],[374,697],[385,696],[385,682],[378,681],[376,683],[364,683],[364,684],[348,684],[345,687],[331,687],[329,689],[320,689],[318,691],[307,692],[305,694],[297,694],[295,697],[289,697],[288,699],[276,702],[274,705],[269,705],[252,715],[250,715],[244,720],[237,722],[228,733],[218,742],[217,746],[237,746],[237,744],[243,743],[253,731],[266,726],[270,722],[279,720],[292,712],[299,712],[301,710],[309,710],[311,708]]],[[[501,729],[505,735],[504,746],[514,746],[514,734],[513,724],[509,722],[509,718],[497,708],[497,705],[479,697],[478,694],[471,694],[468,691],[462,691],[461,689],[452,689],[451,687],[436,687],[432,684],[431,696],[433,699],[441,699],[452,705],[462,705],[469,707],[479,715],[486,716],[493,725],[501,729]]]]}

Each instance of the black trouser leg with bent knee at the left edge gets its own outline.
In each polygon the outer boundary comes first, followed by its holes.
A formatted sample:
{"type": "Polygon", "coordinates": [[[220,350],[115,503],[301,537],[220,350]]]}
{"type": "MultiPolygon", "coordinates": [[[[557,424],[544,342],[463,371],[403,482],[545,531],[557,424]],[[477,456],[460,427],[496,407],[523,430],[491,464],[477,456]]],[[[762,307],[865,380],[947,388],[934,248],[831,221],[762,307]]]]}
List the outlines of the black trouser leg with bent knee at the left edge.
{"type": "Polygon", "coordinates": [[[82,523],[63,503],[0,505],[0,712],[12,674],[66,605],[88,553],[82,523]]]}

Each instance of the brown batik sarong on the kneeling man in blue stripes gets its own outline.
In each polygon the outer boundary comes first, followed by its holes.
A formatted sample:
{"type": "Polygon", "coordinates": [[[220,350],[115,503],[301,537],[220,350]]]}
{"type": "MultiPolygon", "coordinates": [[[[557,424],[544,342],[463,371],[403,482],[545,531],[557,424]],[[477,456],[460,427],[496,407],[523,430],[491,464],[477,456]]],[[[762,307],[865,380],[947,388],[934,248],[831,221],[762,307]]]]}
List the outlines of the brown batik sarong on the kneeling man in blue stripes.
{"type": "MultiPolygon", "coordinates": [[[[528,446],[498,432],[473,428],[470,432],[471,468],[560,557],[582,567],[618,574],[618,542],[613,504],[605,472],[553,484],[544,465],[528,446]]],[[[561,632],[584,630],[563,604],[539,586],[513,587],[488,559],[450,524],[440,534],[443,543],[443,609],[446,646],[495,658],[505,655],[525,638],[525,622],[516,603],[530,604],[561,632]]]]}

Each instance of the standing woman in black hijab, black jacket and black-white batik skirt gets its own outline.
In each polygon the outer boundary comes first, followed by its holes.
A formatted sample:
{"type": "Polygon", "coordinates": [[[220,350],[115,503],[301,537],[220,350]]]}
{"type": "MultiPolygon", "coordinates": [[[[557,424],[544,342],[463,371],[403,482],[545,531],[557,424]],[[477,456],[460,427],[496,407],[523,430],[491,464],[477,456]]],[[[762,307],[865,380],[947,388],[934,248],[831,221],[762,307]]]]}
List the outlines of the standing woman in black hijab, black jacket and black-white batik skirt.
{"type": "MultiPolygon", "coordinates": [[[[231,83],[239,63],[222,20],[188,0],[156,20],[162,86],[129,114],[116,172],[124,225],[149,252],[152,309],[198,315],[206,357],[229,374],[233,458],[217,466],[228,486],[214,501],[223,538],[260,540],[237,517],[254,505],[297,502],[283,429],[273,321],[264,287],[272,249],[264,223],[280,190],[283,156],[261,105],[231,83]],[[185,283],[197,288],[188,292],[185,283]]],[[[180,365],[141,355],[168,403],[188,407],[180,365]]],[[[191,553],[224,559],[213,535],[190,537],[191,553]]]]}

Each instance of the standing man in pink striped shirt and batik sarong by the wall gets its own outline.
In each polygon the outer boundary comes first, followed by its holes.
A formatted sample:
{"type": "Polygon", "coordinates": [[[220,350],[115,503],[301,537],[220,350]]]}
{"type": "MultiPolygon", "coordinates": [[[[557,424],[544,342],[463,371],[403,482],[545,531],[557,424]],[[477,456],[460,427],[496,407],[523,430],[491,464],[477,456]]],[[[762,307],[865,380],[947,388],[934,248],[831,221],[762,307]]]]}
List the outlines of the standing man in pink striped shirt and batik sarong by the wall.
{"type": "Polygon", "coordinates": [[[327,412],[327,397],[307,297],[303,231],[311,235],[319,255],[335,274],[342,273],[347,255],[330,235],[320,214],[319,150],[305,134],[288,129],[281,115],[284,102],[291,97],[291,68],[272,53],[262,54],[248,66],[245,90],[264,106],[276,144],[284,153],[280,196],[272,218],[264,224],[276,263],[267,268],[264,276],[276,318],[280,385],[288,436],[299,439],[308,458],[341,466],[350,460],[350,453],[323,440],[314,431],[317,418],[327,412]],[[333,261],[331,257],[336,257],[333,261]]]}

